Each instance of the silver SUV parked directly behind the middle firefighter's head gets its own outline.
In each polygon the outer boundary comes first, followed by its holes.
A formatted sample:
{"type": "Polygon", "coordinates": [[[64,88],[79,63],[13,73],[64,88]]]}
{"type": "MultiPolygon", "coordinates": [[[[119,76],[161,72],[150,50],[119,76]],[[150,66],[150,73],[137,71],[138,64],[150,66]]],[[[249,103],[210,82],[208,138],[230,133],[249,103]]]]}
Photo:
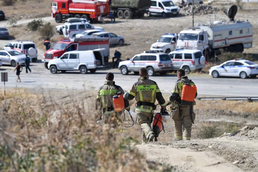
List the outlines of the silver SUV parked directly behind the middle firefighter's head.
{"type": "Polygon", "coordinates": [[[173,70],[172,62],[166,53],[141,53],[136,54],[131,60],[119,62],[118,69],[123,75],[129,72],[139,73],[140,68],[147,68],[149,76],[154,76],[156,72],[165,75],[173,70]]]}

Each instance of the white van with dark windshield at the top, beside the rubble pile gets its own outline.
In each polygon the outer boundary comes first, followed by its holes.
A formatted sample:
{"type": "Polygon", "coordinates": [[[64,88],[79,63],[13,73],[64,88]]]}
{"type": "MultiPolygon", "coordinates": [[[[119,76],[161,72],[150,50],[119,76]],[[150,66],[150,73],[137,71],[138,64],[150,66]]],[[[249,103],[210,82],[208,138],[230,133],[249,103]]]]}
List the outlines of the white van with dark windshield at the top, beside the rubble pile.
{"type": "Polygon", "coordinates": [[[151,0],[151,6],[149,7],[148,16],[161,15],[167,17],[171,15],[178,15],[179,9],[172,2],[172,0],[151,0]]]}

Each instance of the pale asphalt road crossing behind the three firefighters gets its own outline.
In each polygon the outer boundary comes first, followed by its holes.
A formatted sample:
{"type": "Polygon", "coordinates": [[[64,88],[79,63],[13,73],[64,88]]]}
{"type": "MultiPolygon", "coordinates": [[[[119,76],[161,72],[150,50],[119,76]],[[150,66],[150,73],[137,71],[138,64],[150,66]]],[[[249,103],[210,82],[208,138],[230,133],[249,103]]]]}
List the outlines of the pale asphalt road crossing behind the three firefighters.
{"type": "MultiPolygon", "coordinates": [[[[120,85],[124,90],[131,88],[134,82],[137,81],[137,75],[133,73],[124,76],[118,69],[98,70],[95,73],[86,75],[80,74],[78,71],[71,71],[57,74],[50,73],[45,69],[43,63],[32,63],[30,66],[32,72],[25,73],[25,67],[21,72],[21,83],[16,82],[16,73],[13,72],[11,66],[1,66],[0,72],[8,72],[8,82],[6,87],[18,88],[43,88],[49,89],[86,89],[97,91],[103,85],[107,72],[113,72],[117,85],[120,85]]],[[[258,78],[256,79],[240,79],[240,78],[212,78],[207,75],[190,76],[193,82],[197,85],[198,95],[211,96],[258,96],[258,78]]],[[[176,75],[154,76],[150,79],[157,82],[162,93],[169,94],[173,89],[175,81],[178,79],[176,75]]],[[[3,87],[3,83],[0,83],[3,87]]]]}

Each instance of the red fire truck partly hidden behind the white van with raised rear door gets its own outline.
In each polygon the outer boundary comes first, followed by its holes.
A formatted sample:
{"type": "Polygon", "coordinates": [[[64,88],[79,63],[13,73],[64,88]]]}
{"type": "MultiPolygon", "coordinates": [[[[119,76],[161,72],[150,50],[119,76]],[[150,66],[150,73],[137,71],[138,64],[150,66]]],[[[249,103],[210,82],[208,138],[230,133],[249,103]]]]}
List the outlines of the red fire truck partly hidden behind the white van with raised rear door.
{"type": "Polygon", "coordinates": [[[104,56],[104,62],[109,58],[109,38],[71,38],[59,39],[59,41],[49,50],[45,51],[42,62],[45,67],[51,59],[59,58],[68,51],[87,51],[103,48],[101,52],[104,56]]]}

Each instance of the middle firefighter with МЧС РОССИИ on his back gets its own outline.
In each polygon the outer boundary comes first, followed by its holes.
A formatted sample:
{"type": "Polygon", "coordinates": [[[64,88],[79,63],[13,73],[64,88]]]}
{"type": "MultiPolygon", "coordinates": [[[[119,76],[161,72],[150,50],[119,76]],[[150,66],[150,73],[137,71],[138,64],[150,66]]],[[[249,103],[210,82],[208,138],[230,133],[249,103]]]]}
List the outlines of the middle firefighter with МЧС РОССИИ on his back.
{"type": "Polygon", "coordinates": [[[141,68],[139,71],[140,78],[133,84],[132,88],[124,94],[124,99],[135,100],[137,122],[142,129],[142,142],[147,143],[154,138],[154,132],[151,128],[154,110],[156,109],[156,99],[158,103],[166,109],[166,102],[155,81],[149,79],[147,69],[141,68]]]}

